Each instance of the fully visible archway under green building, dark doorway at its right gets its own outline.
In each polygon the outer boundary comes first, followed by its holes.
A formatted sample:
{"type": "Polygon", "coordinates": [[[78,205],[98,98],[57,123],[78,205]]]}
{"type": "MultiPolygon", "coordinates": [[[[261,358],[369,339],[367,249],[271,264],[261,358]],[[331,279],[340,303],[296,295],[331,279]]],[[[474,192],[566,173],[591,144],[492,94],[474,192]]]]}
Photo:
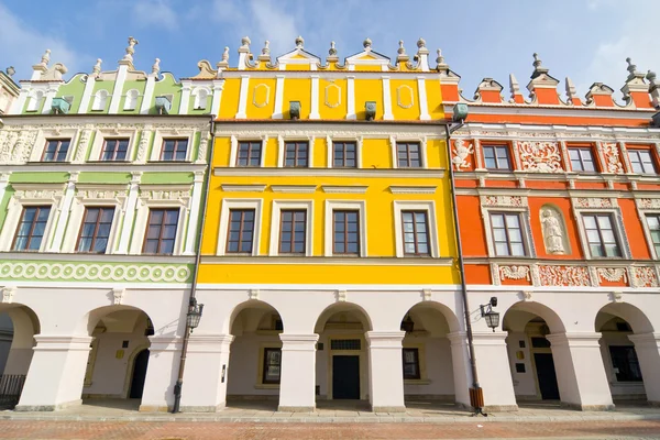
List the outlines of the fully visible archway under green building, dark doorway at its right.
{"type": "Polygon", "coordinates": [[[138,409],[148,363],[148,337],[154,334],[152,320],[134,307],[101,307],[89,314],[87,330],[94,339],[85,370],[84,404],[138,409]]]}

